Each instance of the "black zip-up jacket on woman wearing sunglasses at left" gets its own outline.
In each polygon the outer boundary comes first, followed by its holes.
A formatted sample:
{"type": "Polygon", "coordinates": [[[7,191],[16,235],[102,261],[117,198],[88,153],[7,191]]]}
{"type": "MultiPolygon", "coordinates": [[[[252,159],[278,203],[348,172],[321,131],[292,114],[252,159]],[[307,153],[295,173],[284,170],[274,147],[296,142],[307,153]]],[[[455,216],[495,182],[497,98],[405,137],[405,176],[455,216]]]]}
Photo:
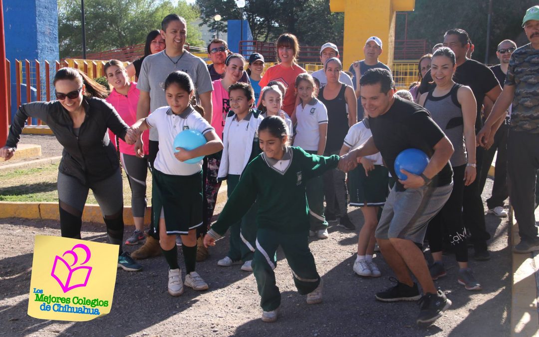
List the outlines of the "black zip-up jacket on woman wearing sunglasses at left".
{"type": "Polygon", "coordinates": [[[58,170],[77,178],[83,185],[110,177],[120,164],[107,129],[125,140],[127,124],[114,107],[99,98],[83,98],[86,116],[79,135],[73,132],[73,120],[59,101],[23,104],[11,123],[6,146],[17,148],[24,123],[38,118],[49,126],[64,147],[58,170]]]}

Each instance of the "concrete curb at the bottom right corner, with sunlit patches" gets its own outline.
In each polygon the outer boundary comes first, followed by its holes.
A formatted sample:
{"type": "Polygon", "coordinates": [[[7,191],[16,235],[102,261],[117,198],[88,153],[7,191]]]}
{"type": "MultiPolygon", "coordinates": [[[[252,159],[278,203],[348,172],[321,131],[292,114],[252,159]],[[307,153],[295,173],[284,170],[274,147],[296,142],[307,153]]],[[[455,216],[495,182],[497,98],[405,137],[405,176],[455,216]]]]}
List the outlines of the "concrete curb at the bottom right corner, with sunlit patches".
{"type": "MultiPolygon", "coordinates": [[[[516,245],[520,242],[519,225],[514,222],[510,225],[511,241],[516,245]]],[[[511,336],[539,336],[539,254],[512,255],[511,336]]]]}

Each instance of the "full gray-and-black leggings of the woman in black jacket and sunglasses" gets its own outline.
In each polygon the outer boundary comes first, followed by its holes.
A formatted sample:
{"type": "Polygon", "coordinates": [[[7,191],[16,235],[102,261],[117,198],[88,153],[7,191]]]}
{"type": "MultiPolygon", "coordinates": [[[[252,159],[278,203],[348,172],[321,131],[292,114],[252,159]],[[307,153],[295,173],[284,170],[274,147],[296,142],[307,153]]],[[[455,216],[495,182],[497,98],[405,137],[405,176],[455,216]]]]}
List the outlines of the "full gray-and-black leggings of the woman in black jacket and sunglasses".
{"type": "Polygon", "coordinates": [[[123,191],[120,169],[106,178],[89,185],[83,185],[72,176],[58,172],[58,205],[62,237],[80,239],[82,211],[92,190],[97,200],[103,220],[107,226],[109,242],[120,245],[123,242],[123,191]]]}

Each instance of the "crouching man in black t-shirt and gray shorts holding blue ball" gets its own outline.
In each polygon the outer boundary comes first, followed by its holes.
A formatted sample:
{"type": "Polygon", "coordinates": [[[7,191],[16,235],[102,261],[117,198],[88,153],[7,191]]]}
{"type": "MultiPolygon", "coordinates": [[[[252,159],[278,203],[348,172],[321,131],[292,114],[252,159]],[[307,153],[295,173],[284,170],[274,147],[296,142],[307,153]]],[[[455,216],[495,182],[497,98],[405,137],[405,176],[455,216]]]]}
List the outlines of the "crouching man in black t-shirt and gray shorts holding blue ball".
{"type": "Polygon", "coordinates": [[[360,85],[372,137],[344,156],[339,168],[350,170],[357,166],[362,156],[379,152],[391,175],[397,177],[395,159],[403,150],[420,149],[430,157],[420,175],[404,170],[399,172],[406,175],[406,180],[396,182],[384,205],[375,237],[398,283],[389,290],[376,293],[375,297],[385,302],[419,299],[421,295],[410,270],[424,292],[417,322],[432,322],[451,305],[451,301],[434,287],[418,245],[423,243],[429,221],[451,195],[453,171],[448,161],[453,146],[425,108],[393,96],[395,85],[388,70],[368,70],[360,85]]]}

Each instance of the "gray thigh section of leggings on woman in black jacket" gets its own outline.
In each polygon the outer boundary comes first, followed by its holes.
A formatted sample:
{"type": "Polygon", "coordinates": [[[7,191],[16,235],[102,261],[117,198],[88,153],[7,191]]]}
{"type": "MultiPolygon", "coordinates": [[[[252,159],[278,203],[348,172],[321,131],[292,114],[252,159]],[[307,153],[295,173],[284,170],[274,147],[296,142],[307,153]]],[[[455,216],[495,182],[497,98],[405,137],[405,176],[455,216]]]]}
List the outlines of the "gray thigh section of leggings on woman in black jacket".
{"type": "MultiPolygon", "coordinates": [[[[103,217],[118,214],[123,208],[122,176],[120,169],[106,178],[85,186],[77,178],[58,172],[58,199],[82,214],[88,191],[92,189],[103,217]]],[[[70,211],[70,210],[67,210],[70,211]]]]}

